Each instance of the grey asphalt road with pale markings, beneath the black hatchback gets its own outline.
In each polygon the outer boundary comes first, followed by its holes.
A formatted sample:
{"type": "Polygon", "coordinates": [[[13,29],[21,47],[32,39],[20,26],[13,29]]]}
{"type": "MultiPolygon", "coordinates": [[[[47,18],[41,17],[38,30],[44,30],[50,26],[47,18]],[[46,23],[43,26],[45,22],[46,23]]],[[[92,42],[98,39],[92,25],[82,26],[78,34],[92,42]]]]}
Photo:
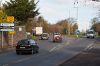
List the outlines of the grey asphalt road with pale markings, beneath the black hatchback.
{"type": "Polygon", "coordinates": [[[16,55],[15,51],[0,54],[0,66],[58,66],[81,51],[91,48],[94,39],[78,40],[63,38],[62,43],[49,40],[38,40],[38,54],[16,55]]]}

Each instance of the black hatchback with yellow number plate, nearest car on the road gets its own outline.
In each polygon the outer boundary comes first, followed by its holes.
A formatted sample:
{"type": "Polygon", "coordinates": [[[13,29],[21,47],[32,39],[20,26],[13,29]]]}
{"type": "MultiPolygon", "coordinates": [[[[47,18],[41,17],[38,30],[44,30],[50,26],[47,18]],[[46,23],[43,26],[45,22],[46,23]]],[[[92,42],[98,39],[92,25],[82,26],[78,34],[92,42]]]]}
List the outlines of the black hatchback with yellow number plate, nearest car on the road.
{"type": "Polygon", "coordinates": [[[38,53],[39,52],[39,46],[37,43],[32,39],[23,39],[18,41],[16,45],[16,54],[20,53],[38,53]]]}

